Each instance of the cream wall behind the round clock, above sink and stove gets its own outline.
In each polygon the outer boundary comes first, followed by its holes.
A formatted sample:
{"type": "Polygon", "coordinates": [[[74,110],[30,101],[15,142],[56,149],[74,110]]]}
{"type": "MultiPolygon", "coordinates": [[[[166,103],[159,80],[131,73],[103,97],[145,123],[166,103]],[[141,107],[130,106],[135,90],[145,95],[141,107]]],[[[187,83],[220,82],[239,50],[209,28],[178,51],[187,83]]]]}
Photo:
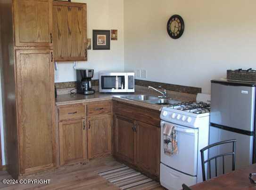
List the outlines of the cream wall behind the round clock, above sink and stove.
{"type": "Polygon", "coordinates": [[[256,68],[255,8],[255,0],[124,0],[124,68],[209,93],[227,69],[256,68]],[[176,40],[166,31],[174,14],[185,22],[176,40]]]}

